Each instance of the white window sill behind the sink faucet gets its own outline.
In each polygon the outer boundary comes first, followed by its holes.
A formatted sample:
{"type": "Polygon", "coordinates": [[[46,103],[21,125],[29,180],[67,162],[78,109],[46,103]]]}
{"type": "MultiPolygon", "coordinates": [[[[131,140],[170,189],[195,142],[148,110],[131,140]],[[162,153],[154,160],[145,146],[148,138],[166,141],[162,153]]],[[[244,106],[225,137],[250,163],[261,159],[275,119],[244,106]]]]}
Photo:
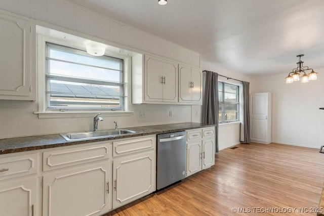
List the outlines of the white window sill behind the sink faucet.
{"type": "Polygon", "coordinates": [[[85,118],[94,117],[96,114],[101,113],[101,116],[130,116],[133,111],[66,111],[66,112],[34,112],[38,114],[38,118],[85,118]]]}

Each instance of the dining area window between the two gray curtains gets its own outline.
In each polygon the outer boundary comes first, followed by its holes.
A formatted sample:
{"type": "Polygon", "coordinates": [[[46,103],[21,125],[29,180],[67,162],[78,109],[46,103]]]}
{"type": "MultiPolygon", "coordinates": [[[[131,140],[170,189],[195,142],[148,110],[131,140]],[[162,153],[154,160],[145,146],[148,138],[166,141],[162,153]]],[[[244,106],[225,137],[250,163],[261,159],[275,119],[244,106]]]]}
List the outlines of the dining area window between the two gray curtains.
{"type": "Polygon", "coordinates": [[[218,82],[218,122],[225,123],[239,120],[238,85],[218,82]]]}

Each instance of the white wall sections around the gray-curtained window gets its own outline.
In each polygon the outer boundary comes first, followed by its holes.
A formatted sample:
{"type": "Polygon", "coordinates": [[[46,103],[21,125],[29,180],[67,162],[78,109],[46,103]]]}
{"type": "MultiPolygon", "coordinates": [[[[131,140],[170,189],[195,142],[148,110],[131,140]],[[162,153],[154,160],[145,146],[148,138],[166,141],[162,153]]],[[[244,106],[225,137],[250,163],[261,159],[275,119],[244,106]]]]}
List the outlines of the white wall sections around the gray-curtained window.
{"type": "MultiPolygon", "coordinates": [[[[203,70],[210,70],[217,72],[221,75],[228,76],[234,79],[250,82],[250,92],[253,89],[253,79],[244,74],[228,70],[227,68],[221,67],[218,64],[201,61],[201,68],[203,70]]],[[[229,80],[230,81],[230,80],[229,80]]],[[[194,122],[202,122],[203,113],[202,106],[191,106],[191,119],[194,122]]],[[[220,124],[218,128],[218,148],[219,150],[234,146],[240,143],[240,124],[239,123],[224,123],[220,124]]]]}

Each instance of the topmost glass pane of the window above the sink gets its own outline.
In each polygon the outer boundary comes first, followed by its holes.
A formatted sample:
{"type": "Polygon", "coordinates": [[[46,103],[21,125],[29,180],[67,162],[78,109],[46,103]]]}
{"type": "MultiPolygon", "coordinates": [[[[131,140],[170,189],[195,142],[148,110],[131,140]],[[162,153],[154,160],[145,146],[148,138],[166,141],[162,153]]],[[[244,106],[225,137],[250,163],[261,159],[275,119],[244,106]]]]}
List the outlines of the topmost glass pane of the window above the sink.
{"type": "MultiPolygon", "coordinates": [[[[88,56],[85,54],[78,54],[78,50],[69,49],[62,47],[62,50],[51,47],[52,45],[49,45],[49,57],[53,59],[63,60],[63,61],[69,61],[69,62],[75,62],[79,64],[87,64],[87,65],[93,65],[97,67],[104,67],[104,68],[110,68],[115,70],[122,70],[123,65],[121,64],[120,59],[114,59],[109,58],[106,56],[88,56]]],[[[55,45],[54,45],[55,46],[55,45]]]]}

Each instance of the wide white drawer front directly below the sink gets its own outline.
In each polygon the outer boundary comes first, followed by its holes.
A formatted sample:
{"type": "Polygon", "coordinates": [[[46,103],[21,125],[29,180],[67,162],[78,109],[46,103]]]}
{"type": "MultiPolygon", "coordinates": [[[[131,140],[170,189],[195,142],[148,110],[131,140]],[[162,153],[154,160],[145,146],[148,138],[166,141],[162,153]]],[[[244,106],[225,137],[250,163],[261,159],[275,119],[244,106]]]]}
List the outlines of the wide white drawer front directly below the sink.
{"type": "Polygon", "coordinates": [[[110,143],[67,148],[43,153],[44,171],[109,158],[110,143]]]}

